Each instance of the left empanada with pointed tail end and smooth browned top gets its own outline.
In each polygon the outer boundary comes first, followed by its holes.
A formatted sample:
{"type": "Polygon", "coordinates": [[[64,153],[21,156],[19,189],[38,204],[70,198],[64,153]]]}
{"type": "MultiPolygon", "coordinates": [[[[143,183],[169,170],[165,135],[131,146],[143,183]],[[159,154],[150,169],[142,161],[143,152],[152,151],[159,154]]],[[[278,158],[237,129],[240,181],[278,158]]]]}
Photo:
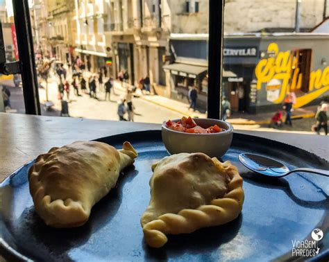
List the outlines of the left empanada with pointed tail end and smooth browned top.
{"type": "Polygon", "coordinates": [[[51,148],[28,171],[35,211],[52,227],[78,227],[117,183],[137,152],[129,142],[117,150],[107,143],[76,141],[51,148]]]}

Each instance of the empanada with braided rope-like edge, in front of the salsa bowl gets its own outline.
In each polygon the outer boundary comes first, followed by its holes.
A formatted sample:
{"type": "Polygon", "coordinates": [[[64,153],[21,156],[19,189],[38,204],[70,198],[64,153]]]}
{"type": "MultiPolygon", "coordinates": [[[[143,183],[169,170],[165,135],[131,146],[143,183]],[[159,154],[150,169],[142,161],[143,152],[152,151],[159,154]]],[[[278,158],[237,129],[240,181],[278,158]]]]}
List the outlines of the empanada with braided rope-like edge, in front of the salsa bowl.
{"type": "Polygon", "coordinates": [[[152,170],[151,200],[141,218],[151,247],[165,245],[166,234],[222,225],[242,211],[242,177],[230,161],[180,153],[153,164],[152,170]]]}

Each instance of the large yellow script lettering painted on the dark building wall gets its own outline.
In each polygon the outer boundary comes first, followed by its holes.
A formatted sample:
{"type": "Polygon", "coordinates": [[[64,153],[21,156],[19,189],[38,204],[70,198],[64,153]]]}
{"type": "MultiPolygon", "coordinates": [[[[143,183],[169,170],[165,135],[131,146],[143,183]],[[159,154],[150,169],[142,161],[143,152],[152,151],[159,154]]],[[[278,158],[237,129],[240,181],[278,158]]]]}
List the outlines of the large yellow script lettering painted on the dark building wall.
{"type": "MultiPolygon", "coordinates": [[[[298,60],[291,51],[279,52],[278,44],[271,43],[267,46],[267,53],[273,56],[264,58],[258,62],[255,68],[257,78],[257,89],[262,89],[262,84],[269,83],[273,80],[280,82],[280,91],[270,96],[269,101],[273,103],[282,103],[288,92],[296,92],[300,94],[296,97],[295,108],[307,105],[315,98],[321,96],[329,90],[329,67],[317,69],[310,72],[310,82],[307,93],[301,91],[303,73],[298,68],[298,60]]],[[[267,87],[271,90],[271,87],[267,87]]],[[[269,97],[269,96],[268,96],[269,97]]]]}

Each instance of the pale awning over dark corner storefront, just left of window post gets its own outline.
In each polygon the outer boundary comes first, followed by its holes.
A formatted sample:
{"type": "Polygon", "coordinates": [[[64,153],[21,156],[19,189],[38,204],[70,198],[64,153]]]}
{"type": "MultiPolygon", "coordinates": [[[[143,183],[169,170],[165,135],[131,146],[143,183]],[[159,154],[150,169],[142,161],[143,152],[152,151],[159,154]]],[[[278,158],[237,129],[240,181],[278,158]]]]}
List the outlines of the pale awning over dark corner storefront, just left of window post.
{"type": "Polygon", "coordinates": [[[185,76],[189,78],[196,78],[200,73],[208,70],[208,67],[201,67],[192,64],[165,64],[163,66],[165,71],[170,71],[173,75],[185,76]]]}

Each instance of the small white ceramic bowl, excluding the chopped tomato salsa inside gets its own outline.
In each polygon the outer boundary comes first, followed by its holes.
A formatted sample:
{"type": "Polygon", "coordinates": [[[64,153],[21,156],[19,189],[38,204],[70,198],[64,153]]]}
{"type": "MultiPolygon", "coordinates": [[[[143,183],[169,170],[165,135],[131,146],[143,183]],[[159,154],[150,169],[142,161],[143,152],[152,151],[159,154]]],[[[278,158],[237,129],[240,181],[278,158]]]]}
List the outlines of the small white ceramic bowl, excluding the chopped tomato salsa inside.
{"type": "MultiPolygon", "coordinates": [[[[174,119],[178,122],[180,119],[174,119]]],[[[169,154],[180,152],[203,152],[210,157],[222,157],[230,148],[233,139],[233,126],[230,123],[217,119],[194,119],[196,125],[209,128],[218,125],[225,131],[212,134],[191,134],[170,130],[166,122],[162,123],[162,141],[169,154]]]]}

